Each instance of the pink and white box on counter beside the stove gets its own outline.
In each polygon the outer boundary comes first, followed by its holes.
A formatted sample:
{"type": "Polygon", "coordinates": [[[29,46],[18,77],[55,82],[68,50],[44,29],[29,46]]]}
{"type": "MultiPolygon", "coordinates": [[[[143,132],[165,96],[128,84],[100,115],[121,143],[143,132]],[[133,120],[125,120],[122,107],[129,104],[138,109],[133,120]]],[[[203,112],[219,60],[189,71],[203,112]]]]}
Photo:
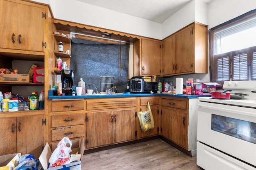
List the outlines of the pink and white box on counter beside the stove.
{"type": "Polygon", "coordinates": [[[207,83],[195,83],[195,94],[196,95],[211,95],[211,92],[216,92],[216,85],[219,85],[215,82],[207,83]]]}

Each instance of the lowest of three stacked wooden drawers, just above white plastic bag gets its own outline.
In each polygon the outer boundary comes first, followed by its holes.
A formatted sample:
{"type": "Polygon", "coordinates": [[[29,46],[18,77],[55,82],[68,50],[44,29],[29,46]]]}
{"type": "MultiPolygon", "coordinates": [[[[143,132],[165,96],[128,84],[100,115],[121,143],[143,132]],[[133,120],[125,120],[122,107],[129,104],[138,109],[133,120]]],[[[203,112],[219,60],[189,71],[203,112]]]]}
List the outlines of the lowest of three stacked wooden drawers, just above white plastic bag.
{"type": "Polygon", "coordinates": [[[84,126],[72,127],[66,129],[54,129],[52,130],[52,141],[59,141],[63,137],[76,138],[84,136],[84,126]]]}

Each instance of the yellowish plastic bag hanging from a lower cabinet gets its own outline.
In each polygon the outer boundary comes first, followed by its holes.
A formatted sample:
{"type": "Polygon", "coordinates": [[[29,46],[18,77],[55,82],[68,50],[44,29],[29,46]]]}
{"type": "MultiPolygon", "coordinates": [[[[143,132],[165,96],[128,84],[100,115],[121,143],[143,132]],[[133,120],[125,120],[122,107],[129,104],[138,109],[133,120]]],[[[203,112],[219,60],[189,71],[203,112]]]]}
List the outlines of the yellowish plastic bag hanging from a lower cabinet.
{"type": "Polygon", "coordinates": [[[147,111],[140,111],[138,113],[138,117],[140,120],[140,127],[142,131],[148,131],[149,129],[153,129],[155,127],[154,125],[154,119],[152,115],[152,111],[150,109],[150,105],[148,102],[148,110],[147,111]]]}

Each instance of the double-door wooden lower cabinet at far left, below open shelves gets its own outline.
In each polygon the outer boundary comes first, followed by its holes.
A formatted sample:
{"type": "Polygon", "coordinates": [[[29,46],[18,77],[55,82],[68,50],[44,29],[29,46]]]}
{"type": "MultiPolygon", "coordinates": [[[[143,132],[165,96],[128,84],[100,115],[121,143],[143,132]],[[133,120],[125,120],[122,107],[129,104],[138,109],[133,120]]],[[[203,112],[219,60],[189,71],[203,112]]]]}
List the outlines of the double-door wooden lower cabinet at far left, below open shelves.
{"type": "Polygon", "coordinates": [[[33,154],[38,158],[44,147],[44,115],[0,118],[0,155],[33,154]]]}

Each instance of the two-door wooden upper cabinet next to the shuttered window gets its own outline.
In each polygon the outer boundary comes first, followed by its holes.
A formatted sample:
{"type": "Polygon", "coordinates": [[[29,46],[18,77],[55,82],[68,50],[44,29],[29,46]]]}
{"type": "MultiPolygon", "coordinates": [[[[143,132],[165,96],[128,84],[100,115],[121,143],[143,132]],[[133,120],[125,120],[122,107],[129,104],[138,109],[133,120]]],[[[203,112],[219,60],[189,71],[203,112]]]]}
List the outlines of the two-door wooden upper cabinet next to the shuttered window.
{"type": "Polygon", "coordinates": [[[208,73],[206,25],[192,23],[162,41],[162,76],[208,73]]]}

